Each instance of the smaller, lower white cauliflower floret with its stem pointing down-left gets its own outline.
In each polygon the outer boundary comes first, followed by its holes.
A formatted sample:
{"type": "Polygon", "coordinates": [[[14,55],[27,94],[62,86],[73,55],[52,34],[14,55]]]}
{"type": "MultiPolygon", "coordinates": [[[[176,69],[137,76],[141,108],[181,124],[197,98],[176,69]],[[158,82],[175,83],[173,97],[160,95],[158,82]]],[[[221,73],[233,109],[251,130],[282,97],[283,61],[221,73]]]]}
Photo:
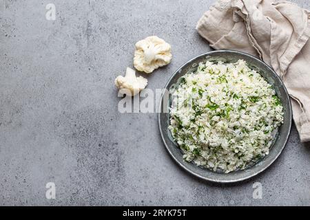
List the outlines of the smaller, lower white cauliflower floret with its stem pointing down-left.
{"type": "Polygon", "coordinates": [[[136,77],[134,69],[127,67],[125,77],[117,76],[115,85],[120,89],[121,94],[136,96],[136,94],[147,86],[147,79],[142,76],[136,77]]]}

